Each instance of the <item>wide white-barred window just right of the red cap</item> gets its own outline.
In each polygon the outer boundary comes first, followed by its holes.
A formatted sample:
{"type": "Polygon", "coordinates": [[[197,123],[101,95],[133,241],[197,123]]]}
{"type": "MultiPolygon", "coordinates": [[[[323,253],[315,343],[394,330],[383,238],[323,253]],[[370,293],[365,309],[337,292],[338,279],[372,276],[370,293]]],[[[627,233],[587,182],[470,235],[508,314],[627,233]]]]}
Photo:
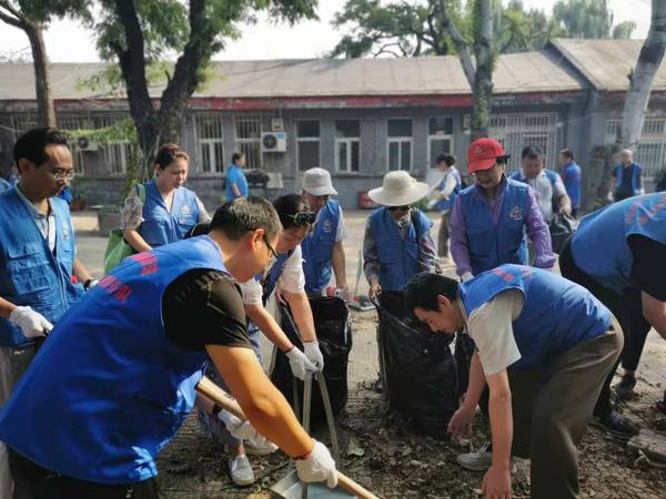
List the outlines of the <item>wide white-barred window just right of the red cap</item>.
{"type": "Polygon", "coordinates": [[[521,152],[536,145],[545,156],[546,167],[557,164],[557,113],[496,114],[491,118],[490,135],[504,147],[508,160],[507,174],[521,167],[521,152]]]}

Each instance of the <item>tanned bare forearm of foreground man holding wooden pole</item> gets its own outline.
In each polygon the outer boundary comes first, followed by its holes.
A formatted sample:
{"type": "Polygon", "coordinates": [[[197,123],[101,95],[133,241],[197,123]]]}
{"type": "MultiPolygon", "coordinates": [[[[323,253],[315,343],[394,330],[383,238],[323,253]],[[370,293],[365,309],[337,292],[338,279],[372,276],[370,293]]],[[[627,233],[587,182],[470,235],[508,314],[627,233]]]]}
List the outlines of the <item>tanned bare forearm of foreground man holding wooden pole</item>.
{"type": "Polygon", "coordinates": [[[312,438],[299,424],[282,394],[269,380],[254,352],[220,345],[206,345],[206,350],[231,394],[261,435],[292,458],[312,451],[312,438]]]}

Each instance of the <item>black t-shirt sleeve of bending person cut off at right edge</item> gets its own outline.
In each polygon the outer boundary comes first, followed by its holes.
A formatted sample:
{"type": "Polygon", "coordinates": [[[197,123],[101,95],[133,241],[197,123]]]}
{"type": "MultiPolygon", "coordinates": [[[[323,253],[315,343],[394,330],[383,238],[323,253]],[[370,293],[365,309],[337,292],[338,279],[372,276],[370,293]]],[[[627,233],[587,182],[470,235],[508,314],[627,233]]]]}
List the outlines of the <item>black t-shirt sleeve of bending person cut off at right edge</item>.
{"type": "Polygon", "coordinates": [[[642,235],[629,236],[628,243],[634,254],[632,284],[666,302],[666,244],[642,235]]]}

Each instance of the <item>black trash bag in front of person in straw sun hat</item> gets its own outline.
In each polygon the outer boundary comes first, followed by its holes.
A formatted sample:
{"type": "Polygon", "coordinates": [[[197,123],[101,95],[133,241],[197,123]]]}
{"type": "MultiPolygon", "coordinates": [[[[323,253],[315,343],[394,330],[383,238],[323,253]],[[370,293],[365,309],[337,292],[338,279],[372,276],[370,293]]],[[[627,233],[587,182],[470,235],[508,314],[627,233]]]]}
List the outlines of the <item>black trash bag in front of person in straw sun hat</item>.
{"type": "Polygon", "coordinates": [[[447,438],[458,408],[458,376],[450,334],[432,334],[404,307],[402,293],[383,292],[377,307],[384,390],[407,428],[447,438]],[[390,312],[389,312],[390,310],[390,312]]]}

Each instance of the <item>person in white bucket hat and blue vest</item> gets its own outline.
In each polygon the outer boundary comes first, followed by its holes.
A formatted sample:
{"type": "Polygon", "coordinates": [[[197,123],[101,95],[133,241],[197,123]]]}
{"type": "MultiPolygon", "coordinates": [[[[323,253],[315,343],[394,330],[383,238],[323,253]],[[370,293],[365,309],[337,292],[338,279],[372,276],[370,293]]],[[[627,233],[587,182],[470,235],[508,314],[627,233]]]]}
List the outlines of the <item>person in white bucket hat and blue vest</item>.
{"type": "Polygon", "coordinates": [[[337,201],[331,200],[336,194],[329,171],[316,167],[303,173],[303,198],[317,214],[312,231],[301,243],[307,293],[322,294],[331,282],[331,274],[335,274],[337,289],[347,289],[344,217],[337,201]]]}

